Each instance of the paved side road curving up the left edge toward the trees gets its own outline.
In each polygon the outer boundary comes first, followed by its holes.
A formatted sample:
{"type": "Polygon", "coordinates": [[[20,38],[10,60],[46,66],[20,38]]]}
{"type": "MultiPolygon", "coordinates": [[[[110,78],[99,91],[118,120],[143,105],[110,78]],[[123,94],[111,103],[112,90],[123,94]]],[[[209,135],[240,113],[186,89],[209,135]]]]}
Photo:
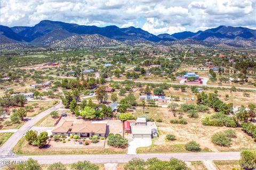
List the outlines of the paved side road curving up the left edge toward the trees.
{"type": "Polygon", "coordinates": [[[32,126],[34,126],[39,120],[41,120],[44,116],[50,114],[52,111],[56,111],[60,107],[62,107],[63,104],[60,102],[58,105],[53,106],[46,111],[38,114],[34,118],[32,118],[30,121],[25,123],[21,128],[15,132],[0,148],[0,156],[6,156],[6,155],[13,155],[12,148],[18,143],[18,141],[23,137],[23,135],[26,134],[27,131],[29,131],[32,126]]]}

